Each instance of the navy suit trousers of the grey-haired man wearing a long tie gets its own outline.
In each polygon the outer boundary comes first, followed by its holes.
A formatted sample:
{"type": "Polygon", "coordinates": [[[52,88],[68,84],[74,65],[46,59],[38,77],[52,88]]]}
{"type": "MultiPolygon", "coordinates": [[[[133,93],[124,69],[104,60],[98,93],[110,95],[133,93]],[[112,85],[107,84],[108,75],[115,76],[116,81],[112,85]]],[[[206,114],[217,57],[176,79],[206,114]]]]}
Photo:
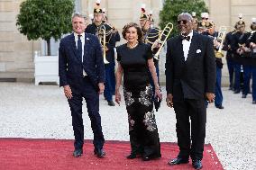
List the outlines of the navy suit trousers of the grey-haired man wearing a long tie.
{"type": "Polygon", "coordinates": [[[94,133],[94,146],[95,148],[103,148],[105,139],[102,133],[101,117],[99,114],[99,94],[96,92],[96,88],[86,76],[81,80],[80,88],[71,86],[71,90],[73,97],[68,100],[68,102],[75,136],[74,147],[83,148],[84,144],[84,124],[82,118],[82,101],[84,97],[87,103],[87,112],[91,121],[91,128],[94,133]]]}

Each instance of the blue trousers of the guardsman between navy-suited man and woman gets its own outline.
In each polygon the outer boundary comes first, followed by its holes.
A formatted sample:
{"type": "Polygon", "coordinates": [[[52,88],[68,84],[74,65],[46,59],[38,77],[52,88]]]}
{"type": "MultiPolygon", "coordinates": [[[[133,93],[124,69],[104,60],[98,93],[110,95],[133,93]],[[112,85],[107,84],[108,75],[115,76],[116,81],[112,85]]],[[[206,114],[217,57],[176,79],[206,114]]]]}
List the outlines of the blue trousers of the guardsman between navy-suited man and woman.
{"type": "Polygon", "coordinates": [[[113,63],[105,64],[105,90],[104,90],[104,96],[107,101],[113,101],[113,91],[114,86],[113,85],[113,63]]]}

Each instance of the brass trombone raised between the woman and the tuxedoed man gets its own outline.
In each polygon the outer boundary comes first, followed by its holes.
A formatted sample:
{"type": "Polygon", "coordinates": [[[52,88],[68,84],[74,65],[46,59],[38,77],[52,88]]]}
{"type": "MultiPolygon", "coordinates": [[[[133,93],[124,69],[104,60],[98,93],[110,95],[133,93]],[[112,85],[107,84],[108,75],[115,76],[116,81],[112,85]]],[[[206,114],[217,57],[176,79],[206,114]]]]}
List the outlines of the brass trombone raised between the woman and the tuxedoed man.
{"type": "Polygon", "coordinates": [[[169,34],[172,31],[172,29],[173,29],[173,24],[171,22],[168,22],[166,24],[166,26],[164,27],[163,31],[161,31],[158,40],[155,40],[154,43],[152,44],[151,50],[153,50],[155,47],[158,46],[158,44],[160,44],[160,48],[158,49],[158,51],[154,55],[155,59],[157,59],[157,60],[160,59],[160,50],[164,46],[164,44],[165,44],[166,40],[168,39],[169,34]]]}

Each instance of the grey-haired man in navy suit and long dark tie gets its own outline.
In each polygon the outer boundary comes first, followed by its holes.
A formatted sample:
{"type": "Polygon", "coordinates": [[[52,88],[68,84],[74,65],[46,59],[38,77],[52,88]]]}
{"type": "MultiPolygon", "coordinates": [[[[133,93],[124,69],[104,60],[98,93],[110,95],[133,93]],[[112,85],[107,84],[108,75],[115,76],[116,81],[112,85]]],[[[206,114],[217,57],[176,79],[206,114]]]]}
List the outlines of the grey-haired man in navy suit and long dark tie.
{"type": "Polygon", "coordinates": [[[99,94],[104,92],[105,68],[102,49],[96,36],[85,33],[87,18],[79,13],[72,16],[73,33],[60,40],[59,84],[68,98],[74,130],[74,157],[83,154],[83,97],[94,132],[95,155],[104,157],[105,142],[99,114],[99,94]]]}

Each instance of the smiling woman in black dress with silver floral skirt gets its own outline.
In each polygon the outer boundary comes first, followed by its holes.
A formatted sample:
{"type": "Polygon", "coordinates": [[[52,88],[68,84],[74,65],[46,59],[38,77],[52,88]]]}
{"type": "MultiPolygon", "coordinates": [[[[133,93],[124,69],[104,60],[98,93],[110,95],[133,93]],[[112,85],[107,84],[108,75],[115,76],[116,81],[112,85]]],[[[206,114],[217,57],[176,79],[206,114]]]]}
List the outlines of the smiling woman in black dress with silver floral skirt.
{"type": "Polygon", "coordinates": [[[160,139],[153,112],[150,74],[156,87],[155,96],[160,100],[160,85],[157,81],[151,47],[142,43],[142,30],[137,23],[123,27],[123,39],[127,43],[117,47],[118,68],[116,71],[115,102],[121,102],[119,88],[123,76],[123,95],[128,112],[131,154],[133,159],[141,156],[147,161],[160,157],[160,139]]]}

